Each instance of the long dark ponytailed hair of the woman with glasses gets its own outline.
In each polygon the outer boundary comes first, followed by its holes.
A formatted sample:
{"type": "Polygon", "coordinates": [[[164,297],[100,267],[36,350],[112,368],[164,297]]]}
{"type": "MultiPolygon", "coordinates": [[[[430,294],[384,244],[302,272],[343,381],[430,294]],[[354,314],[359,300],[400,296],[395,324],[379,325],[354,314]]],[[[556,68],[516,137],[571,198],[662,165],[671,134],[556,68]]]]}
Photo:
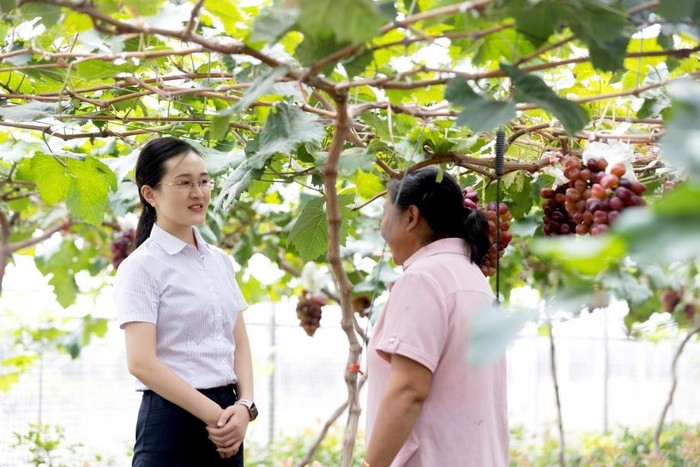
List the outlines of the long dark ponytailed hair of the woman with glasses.
{"type": "MultiPolygon", "coordinates": [[[[144,199],[141,194],[141,187],[148,185],[155,188],[163,179],[163,175],[165,175],[165,163],[173,157],[189,151],[199,154],[199,151],[190,144],[171,136],[152,139],[141,149],[139,158],[136,161],[134,178],[136,179],[136,188],[139,191],[139,199],[143,210],[141,211],[138,227],[136,227],[134,249],[138,248],[151,235],[151,229],[156,222],[156,209],[144,199]]],[[[201,156],[201,154],[199,155],[201,156]]]]}

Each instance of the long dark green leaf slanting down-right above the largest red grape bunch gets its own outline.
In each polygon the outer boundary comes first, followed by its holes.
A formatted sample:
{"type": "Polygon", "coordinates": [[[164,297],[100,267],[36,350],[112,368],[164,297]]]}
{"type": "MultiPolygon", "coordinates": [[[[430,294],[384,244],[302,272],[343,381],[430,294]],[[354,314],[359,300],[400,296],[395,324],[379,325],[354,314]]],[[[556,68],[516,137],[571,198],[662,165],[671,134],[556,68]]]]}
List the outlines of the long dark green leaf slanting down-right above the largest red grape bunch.
{"type": "Polygon", "coordinates": [[[513,79],[516,101],[534,103],[551,112],[561,121],[567,134],[574,135],[588,123],[589,116],[583,107],[557,96],[542,78],[506,64],[501,64],[501,69],[513,79]]]}

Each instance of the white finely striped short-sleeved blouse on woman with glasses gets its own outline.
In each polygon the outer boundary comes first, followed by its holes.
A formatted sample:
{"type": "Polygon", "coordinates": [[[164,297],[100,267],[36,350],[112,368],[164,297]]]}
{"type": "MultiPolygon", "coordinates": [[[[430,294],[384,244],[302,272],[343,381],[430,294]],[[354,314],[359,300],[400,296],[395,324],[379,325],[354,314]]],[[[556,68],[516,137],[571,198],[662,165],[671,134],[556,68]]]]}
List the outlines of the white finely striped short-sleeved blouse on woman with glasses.
{"type": "MultiPolygon", "coordinates": [[[[247,306],[226,253],[194,229],[195,248],[158,225],[117,270],[119,326],[156,325],[158,358],[197,389],[236,383],[233,326],[247,306]]],[[[136,382],[136,389],[146,386],[136,382]]]]}

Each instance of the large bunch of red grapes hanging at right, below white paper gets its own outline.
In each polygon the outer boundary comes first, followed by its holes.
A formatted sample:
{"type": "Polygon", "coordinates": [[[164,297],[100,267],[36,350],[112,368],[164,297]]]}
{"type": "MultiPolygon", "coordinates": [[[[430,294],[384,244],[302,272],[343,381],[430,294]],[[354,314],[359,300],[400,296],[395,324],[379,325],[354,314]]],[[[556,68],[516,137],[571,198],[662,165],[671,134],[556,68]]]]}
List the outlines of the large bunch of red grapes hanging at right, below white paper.
{"type": "Polygon", "coordinates": [[[544,234],[577,233],[599,235],[624,209],[645,204],[642,193],[646,187],[624,178],[625,164],[618,162],[606,172],[605,159],[589,159],[582,165],[577,157],[563,161],[567,183],[554,188],[542,188],[544,203],[544,234]]]}

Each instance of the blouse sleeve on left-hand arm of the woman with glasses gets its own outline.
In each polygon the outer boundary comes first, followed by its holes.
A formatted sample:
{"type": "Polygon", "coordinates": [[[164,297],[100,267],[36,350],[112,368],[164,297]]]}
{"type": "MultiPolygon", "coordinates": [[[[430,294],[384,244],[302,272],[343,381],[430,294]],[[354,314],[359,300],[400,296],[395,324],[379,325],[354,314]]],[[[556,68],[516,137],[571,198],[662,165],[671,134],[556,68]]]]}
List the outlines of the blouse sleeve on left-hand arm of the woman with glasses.
{"type": "Polygon", "coordinates": [[[135,321],[157,323],[158,285],[138,258],[129,257],[119,265],[114,282],[114,300],[120,328],[135,321]]]}

